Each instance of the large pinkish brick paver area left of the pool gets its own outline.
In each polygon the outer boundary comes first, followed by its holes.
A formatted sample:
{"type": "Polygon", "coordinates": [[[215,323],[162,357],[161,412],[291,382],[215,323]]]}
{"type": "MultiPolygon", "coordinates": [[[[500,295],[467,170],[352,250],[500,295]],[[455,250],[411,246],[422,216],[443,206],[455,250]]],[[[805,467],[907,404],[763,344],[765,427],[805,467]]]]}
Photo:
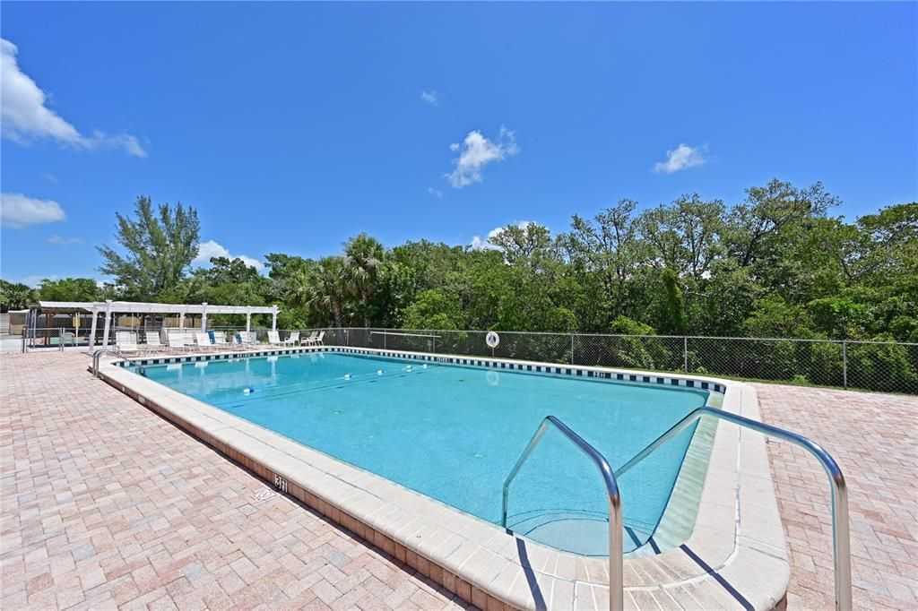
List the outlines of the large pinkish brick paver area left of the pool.
{"type": "Polygon", "coordinates": [[[464,606],[88,364],[0,357],[0,608],[464,606]]]}

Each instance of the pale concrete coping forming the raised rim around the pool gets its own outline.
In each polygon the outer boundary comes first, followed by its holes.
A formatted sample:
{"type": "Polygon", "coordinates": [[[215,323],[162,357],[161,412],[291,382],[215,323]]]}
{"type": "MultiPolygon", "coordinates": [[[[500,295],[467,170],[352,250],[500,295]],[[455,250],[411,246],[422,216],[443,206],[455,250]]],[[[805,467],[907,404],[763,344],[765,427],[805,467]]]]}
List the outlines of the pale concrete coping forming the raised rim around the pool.
{"type": "MultiPolygon", "coordinates": [[[[177,358],[181,359],[196,356],[177,358]]],[[[608,608],[605,560],[553,550],[508,534],[114,363],[104,361],[100,368],[107,383],[267,481],[282,478],[276,483],[287,494],[474,605],[488,609],[502,605],[608,608]]],[[[758,419],[751,386],[700,376],[678,377],[723,384],[723,408],[758,419]]],[[[767,609],[783,603],[789,564],[764,439],[719,423],[703,479],[698,518],[689,540],[656,556],[625,559],[626,606],[655,608],[675,600],[684,606],[767,609]]]]}

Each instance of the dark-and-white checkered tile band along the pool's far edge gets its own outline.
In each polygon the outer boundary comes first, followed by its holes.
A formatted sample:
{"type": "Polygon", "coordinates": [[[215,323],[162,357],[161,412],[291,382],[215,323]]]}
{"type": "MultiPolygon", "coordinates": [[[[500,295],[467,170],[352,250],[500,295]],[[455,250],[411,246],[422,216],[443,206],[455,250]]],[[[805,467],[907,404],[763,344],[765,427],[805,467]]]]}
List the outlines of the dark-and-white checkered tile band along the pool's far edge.
{"type": "MultiPolygon", "coordinates": [[[[547,373],[550,375],[569,375],[574,377],[598,378],[615,382],[631,383],[648,383],[662,384],[666,386],[683,386],[686,388],[696,388],[707,390],[713,393],[720,393],[726,390],[722,384],[707,382],[705,380],[693,380],[691,378],[661,376],[647,373],[617,372],[606,370],[604,368],[590,368],[574,365],[553,365],[538,364],[531,362],[519,361],[501,361],[498,359],[481,359],[475,357],[463,356],[445,356],[437,354],[427,354],[423,352],[398,352],[395,350],[374,350],[368,348],[346,348],[343,346],[319,346],[306,347],[297,349],[278,349],[278,350],[254,350],[251,352],[216,352],[212,354],[195,354],[189,356],[174,356],[158,359],[131,359],[134,364],[146,365],[165,365],[171,363],[196,362],[196,361],[233,361],[236,359],[257,358],[266,356],[277,356],[285,354],[302,354],[304,352],[337,352],[341,354],[361,354],[382,356],[386,358],[406,359],[412,361],[428,361],[435,363],[446,363],[453,365],[463,365],[466,367],[482,367],[486,369],[506,369],[516,372],[547,373]]],[[[128,361],[118,363],[121,366],[130,364],[128,361]]]]}

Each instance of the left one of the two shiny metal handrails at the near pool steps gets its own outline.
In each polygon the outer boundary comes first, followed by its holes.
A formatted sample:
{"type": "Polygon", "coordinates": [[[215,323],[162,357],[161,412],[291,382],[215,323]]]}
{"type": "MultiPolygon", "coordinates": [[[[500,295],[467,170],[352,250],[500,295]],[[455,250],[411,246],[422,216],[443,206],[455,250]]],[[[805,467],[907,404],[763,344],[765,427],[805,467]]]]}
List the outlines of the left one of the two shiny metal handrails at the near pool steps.
{"type": "Polygon", "coordinates": [[[523,463],[529,458],[529,455],[532,454],[532,450],[535,450],[535,446],[542,439],[545,431],[548,430],[548,425],[553,425],[554,428],[564,433],[567,439],[573,441],[574,445],[596,464],[599,468],[599,472],[602,474],[602,481],[606,484],[606,494],[609,498],[609,608],[610,611],[621,611],[624,607],[624,581],[621,567],[621,494],[619,494],[619,484],[615,481],[615,473],[612,472],[612,468],[610,467],[609,461],[606,460],[606,457],[600,454],[599,450],[589,445],[585,439],[577,435],[577,433],[568,428],[564,422],[556,417],[544,417],[542,424],[539,425],[532,439],[530,439],[529,445],[522,451],[520,460],[513,466],[513,470],[510,471],[507,479],[504,481],[504,502],[500,524],[503,528],[507,528],[507,505],[509,503],[510,483],[513,481],[513,478],[516,477],[517,473],[520,472],[523,463]]]}

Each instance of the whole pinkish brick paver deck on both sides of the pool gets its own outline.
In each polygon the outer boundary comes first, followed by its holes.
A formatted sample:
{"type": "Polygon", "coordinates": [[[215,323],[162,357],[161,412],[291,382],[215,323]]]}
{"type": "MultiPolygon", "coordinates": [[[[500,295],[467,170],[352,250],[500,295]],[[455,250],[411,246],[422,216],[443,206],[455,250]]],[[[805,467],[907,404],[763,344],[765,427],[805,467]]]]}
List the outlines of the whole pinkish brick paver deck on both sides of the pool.
{"type": "MultiPolygon", "coordinates": [[[[465,605],[85,371],[0,357],[0,608],[465,605]]],[[[762,417],[845,472],[855,608],[918,608],[918,398],[756,384],[762,417]]],[[[832,608],[827,482],[769,443],[791,609],[832,608]]]]}

